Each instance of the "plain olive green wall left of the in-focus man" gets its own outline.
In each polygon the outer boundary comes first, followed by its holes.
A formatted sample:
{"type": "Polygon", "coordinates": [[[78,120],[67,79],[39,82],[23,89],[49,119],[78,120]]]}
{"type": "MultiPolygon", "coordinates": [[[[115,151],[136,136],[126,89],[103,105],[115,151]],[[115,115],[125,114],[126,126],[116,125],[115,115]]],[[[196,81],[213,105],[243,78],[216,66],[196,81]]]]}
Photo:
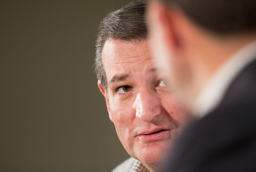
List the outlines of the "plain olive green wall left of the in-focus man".
{"type": "Polygon", "coordinates": [[[0,1],[0,172],[110,172],[129,157],[93,58],[101,19],[130,1],[0,1]]]}

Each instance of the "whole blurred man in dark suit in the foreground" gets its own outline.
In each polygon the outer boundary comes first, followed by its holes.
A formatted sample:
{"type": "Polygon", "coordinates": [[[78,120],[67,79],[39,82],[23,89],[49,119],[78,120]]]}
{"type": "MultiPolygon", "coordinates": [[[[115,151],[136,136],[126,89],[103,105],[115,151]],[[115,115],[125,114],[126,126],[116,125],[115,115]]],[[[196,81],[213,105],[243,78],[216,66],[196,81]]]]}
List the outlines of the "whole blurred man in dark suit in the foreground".
{"type": "Polygon", "coordinates": [[[168,172],[256,172],[256,1],[151,0],[156,65],[196,122],[168,172]]]}

